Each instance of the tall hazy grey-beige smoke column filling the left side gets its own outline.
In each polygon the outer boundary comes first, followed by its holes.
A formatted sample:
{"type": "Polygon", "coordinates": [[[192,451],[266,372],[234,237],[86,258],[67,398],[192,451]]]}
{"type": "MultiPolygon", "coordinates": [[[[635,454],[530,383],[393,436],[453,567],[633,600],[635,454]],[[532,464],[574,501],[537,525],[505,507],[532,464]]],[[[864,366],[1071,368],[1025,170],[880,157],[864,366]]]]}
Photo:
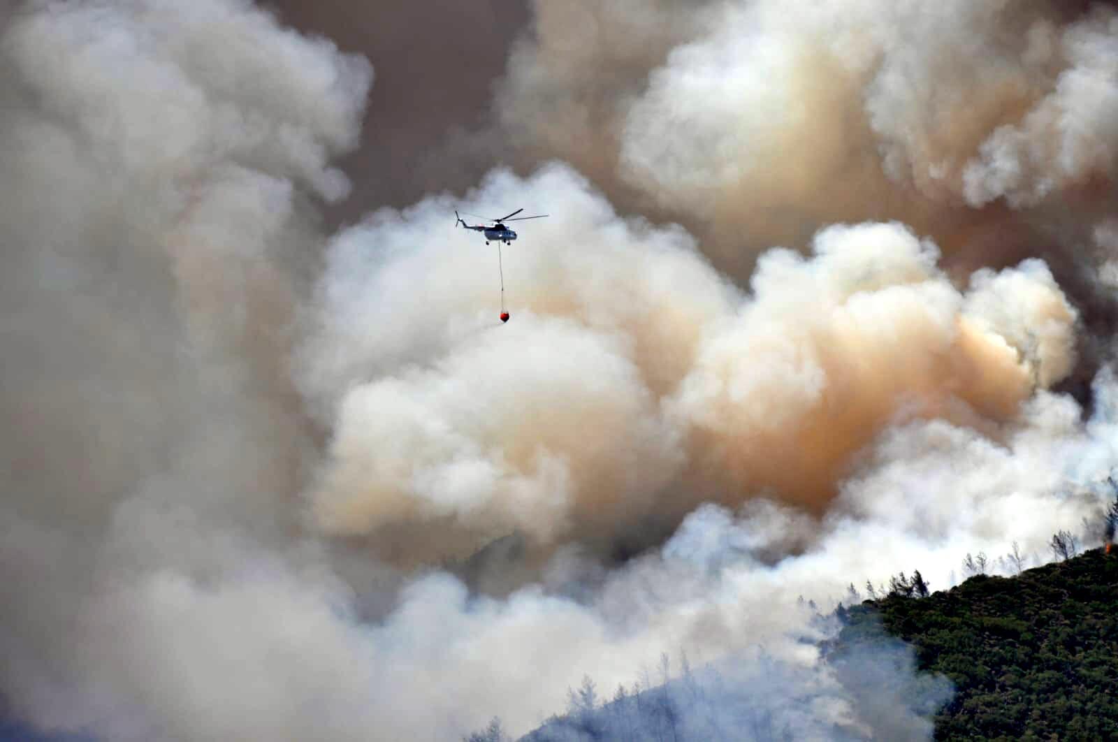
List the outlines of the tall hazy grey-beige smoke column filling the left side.
{"type": "Polygon", "coordinates": [[[357,141],[371,70],[248,2],[27,2],[0,34],[6,708],[206,736],[160,685],[180,669],[164,647],[207,646],[176,613],[206,609],[167,586],[291,541],[313,453],[284,371],[306,202],[345,192],[330,160],[357,141]]]}

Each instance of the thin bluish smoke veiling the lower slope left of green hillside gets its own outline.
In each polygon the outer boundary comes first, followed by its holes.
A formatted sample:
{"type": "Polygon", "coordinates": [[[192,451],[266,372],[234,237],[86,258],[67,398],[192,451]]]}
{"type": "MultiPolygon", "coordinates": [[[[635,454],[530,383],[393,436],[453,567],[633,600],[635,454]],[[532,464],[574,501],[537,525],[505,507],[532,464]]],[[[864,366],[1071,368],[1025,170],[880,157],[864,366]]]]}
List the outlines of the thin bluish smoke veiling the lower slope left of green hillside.
{"type": "MultiPolygon", "coordinates": [[[[825,624],[822,617],[816,622],[825,624]]],[[[698,670],[686,654],[678,657],[678,667],[664,654],[656,669],[645,669],[632,688],[618,685],[612,694],[608,688],[601,693],[591,678],[584,678],[569,693],[567,713],[522,740],[930,738],[929,717],[950,698],[951,684],[944,677],[917,678],[912,648],[897,640],[847,654],[817,669],[758,647],[698,670]]],[[[494,738],[484,742],[500,742],[494,738]]]]}

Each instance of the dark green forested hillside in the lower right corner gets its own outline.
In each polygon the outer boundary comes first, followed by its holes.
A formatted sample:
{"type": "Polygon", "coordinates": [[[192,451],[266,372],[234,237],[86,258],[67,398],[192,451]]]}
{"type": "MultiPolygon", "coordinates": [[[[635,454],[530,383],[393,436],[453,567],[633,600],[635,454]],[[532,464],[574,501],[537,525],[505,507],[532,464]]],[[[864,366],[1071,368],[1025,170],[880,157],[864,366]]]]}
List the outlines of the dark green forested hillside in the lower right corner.
{"type": "Polygon", "coordinates": [[[899,637],[920,670],[951,679],[936,739],[1118,739],[1118,550],[922,598],[893,591],[840,615],[825,647],[840,674],[847,657],[899,637]]]}

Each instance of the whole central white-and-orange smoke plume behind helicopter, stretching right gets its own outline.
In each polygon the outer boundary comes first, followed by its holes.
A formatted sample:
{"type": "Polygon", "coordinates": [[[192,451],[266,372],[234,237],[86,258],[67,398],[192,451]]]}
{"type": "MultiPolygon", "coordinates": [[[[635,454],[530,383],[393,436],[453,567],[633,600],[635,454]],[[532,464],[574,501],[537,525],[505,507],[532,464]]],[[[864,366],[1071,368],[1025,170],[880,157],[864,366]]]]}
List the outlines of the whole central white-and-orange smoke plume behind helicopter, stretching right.
{"type": "Polygon", "coordinates": [[[510,532],[615,544],[766,489],[822,512],[887,424],[1010,420],[1074,360],[1074,312],[1041,263],[960,292],[903,227],[834,227],[809,258],[764,255],[747,296],[565,168],[474,197],[517,198],[563,219],[524,228],[508,267],[521,308],[500,332],[493,266],[446,249],[445,203],[335,242],[306,354],[309,398],[337,410],[312,493],[328,532],[430,559],[510,532]],[[383,365],[402,373],[364,381],[383,365]]]}

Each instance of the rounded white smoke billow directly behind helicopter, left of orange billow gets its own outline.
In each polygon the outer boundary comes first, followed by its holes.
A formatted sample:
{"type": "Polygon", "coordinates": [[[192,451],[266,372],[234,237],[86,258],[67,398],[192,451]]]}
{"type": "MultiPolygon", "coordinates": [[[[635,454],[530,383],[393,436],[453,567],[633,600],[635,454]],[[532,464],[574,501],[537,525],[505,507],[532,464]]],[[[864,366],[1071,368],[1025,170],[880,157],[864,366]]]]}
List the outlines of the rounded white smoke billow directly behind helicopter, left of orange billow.
{"type": "Polygon", "coordinates": [[[305,388],[340,416],[337,464],[315,496],[329,531],[453,515],[481,534],[474,546],[513,529],[543,542],[609,534],[609,522],[651,515],[681,468],[657,397],[686,373],[733,289],[681,231],[617,219],[565,168],[496,175],[475,200],[515,199],[562,216],[525,222],[505,249],[508,325],[493,316],[496,249],[452,231],[449,204],[375,219],[334,244],[322,332],[304,354],[305,388]],[[356,375],[385,364],[391,372],[368,382],[356,375]]]}

